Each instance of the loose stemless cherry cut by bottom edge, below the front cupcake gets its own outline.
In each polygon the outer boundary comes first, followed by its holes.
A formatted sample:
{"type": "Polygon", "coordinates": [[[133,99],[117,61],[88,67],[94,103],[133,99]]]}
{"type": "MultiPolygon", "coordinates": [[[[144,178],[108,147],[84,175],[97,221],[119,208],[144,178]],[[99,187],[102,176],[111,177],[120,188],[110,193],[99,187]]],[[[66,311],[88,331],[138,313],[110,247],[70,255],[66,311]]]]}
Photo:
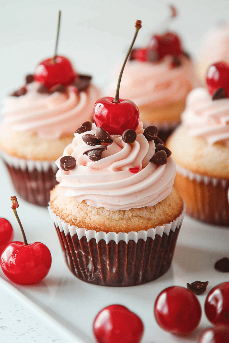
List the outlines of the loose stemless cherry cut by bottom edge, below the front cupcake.
{"type": "Polygon", "coordinates": [[[141,319],[122,305],[105,307],[93,323],[93,333],[98,343],[139,343],[143,331],[141,319]]]}

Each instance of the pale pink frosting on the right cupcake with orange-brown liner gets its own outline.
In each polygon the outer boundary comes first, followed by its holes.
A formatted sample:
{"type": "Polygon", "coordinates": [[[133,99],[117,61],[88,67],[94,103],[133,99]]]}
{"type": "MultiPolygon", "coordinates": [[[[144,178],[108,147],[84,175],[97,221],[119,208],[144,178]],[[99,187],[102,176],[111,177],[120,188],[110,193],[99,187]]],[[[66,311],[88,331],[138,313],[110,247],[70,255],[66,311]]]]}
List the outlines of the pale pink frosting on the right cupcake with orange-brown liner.
{"type": "Polygon", "coordinates": [[[193,137],[209,144],[224,141],[229,145],[229,98],[212,100],[206,88],[196,88],[187,97],[182,125],[193,137]]]}

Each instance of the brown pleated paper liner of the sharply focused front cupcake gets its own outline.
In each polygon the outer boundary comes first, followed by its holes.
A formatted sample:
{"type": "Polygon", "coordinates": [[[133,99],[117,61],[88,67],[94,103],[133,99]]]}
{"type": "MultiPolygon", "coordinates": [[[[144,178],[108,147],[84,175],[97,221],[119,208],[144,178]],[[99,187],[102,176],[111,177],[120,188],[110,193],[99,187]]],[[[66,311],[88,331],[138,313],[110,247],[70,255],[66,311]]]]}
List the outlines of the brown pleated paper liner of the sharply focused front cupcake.
{"type": "Polygon", "coordinates": [[[168,271],[185,214],[147,231],[105,233],[70,225],[48,207],[65,261],[80,280],[101,286],[135,286],[168,271]]]}

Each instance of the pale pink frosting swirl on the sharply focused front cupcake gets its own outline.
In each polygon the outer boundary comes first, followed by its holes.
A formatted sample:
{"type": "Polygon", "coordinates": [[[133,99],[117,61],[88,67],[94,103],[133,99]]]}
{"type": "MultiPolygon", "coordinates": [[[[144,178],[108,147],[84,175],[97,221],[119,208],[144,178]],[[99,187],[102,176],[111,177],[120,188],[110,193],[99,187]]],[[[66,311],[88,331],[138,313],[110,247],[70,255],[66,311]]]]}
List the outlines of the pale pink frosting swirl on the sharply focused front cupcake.
{"type": "Polygon", "coordinates": [[[103,151],[99,161],[92,162],[83,152],[98,145],[88,146],[82,135],[95,134],[95,131],[93,124],[92,130],[75,133],[72,144],[65,148],[63,156],[71,155],[76,159],[74,169],[64,171],[60,169],[60,159],[56,161],[59,168],[57,181],[60,182],[59,187],[66,188],[67,197],[115,211],[153,206],[170,194],[175,163],[171,157],[165,165],[149,162],[155,153],[155,144],[143,135],[141,122],[134,143],[124,143],[120,135],[111,135],[113,143],[103,151]],[[130,168],[139,168],[139,171],[133,174],[130,168]]]}

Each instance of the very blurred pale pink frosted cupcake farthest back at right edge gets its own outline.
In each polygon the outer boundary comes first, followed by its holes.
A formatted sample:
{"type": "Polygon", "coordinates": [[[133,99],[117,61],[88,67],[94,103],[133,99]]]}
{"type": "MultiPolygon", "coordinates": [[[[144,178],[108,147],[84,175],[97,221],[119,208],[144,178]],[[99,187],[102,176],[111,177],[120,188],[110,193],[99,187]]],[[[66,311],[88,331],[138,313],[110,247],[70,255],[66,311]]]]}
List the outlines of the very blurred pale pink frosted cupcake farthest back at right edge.
{"type": "Polygon", "coordinates": [[[229,24],[226,21],[209,29],[203,38],[197,59],[197,73],[203,86],[209,66],[220,60],[229,63],[229,24]]]}

